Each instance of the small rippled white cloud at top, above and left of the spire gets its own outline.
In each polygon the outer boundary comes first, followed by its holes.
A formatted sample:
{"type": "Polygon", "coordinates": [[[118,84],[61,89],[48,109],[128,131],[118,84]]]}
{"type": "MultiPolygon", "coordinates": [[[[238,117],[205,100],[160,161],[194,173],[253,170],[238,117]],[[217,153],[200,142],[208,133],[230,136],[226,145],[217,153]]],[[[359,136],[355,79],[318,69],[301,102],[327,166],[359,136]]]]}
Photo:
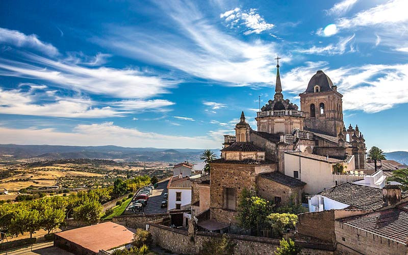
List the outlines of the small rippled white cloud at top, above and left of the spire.
{"type": "Polygon", "coordinates": [[[230,27],[235,27],[238,24],[243,24],[247,28],[245,35],[260,34],[264,31],[272,29],[275,25],[267,23],[265,19],[257,13],[258,9],[250,9],[249,11],[241,11],[240,8],[235,8],[220,14],[220,18],[225,18],[229,22],[230,27]],[[241,21],[241,22],[239,22],[241,21]]]}

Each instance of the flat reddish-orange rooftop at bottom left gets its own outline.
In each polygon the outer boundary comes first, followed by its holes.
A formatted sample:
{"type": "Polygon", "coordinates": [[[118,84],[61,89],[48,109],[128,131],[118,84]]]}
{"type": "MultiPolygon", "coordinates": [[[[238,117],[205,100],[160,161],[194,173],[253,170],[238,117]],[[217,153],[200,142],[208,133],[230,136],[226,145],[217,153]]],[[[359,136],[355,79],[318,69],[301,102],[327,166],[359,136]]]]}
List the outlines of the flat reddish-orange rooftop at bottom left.
{"type": "Polygon", "coordinates": [[[125,227],[113,222],[104,222],[92,226],[74,228],[55,235],[86,249],[98,252],[109,250],[132,242],[133,228],[125,227]]]}

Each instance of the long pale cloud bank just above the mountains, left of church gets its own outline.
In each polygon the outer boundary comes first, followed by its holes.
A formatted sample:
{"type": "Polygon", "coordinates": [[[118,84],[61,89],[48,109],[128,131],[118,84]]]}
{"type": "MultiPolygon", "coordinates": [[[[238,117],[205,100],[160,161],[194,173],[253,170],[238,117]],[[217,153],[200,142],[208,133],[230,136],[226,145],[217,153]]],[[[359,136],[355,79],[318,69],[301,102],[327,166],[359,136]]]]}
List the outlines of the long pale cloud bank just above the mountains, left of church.
{"type": "MultiPolygon", "coordinates": [[[[54,129],[11,129],[0,126],[0,139],[3,143],[44,144],[49,145],[107,145],[126,147],[162,147],[162,148],[217,148],[218,140],[208,137],[170,136],[153,132],[142,132],[137,129],[126,129],[112,122],[101,124],[80,124],[72,133],[54,129]]],[[[222,139],[222,137],[221,137],[222,139]]]]}

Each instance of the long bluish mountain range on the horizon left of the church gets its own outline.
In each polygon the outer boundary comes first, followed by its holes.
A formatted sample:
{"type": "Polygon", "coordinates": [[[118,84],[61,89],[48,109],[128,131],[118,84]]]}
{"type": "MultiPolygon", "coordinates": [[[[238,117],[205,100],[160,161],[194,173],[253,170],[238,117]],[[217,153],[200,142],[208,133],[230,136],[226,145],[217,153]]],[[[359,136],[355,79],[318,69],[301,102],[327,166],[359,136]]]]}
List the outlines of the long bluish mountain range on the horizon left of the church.
{"type": "MultiPolygon", "coordinates": [[[[219,154],[220,149],[212,149],[219,154]]],[[[64,160],[64,159],[106,159],[124,162],[132,161],[200,161],[203,149],[131,148],[114,145],[106,146],[62,146],[62,145],[17,145],[0,144],[0,160],[64,160]]]]}

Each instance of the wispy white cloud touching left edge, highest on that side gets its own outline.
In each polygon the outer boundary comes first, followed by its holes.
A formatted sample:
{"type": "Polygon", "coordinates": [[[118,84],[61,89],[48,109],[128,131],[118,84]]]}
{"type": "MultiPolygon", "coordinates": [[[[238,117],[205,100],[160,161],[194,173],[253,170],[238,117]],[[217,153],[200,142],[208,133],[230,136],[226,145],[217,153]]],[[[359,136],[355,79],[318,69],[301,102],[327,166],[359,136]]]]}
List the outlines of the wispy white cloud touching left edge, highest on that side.
{"type": "Polygon", "coordinates": [[[0,42],[12,44],[16,47],[29,47],[48,55],[59,55],[58,49],[52,44],[42,42],[35,34],[25,35],[16,30],[0,28],[0,42]]]}

